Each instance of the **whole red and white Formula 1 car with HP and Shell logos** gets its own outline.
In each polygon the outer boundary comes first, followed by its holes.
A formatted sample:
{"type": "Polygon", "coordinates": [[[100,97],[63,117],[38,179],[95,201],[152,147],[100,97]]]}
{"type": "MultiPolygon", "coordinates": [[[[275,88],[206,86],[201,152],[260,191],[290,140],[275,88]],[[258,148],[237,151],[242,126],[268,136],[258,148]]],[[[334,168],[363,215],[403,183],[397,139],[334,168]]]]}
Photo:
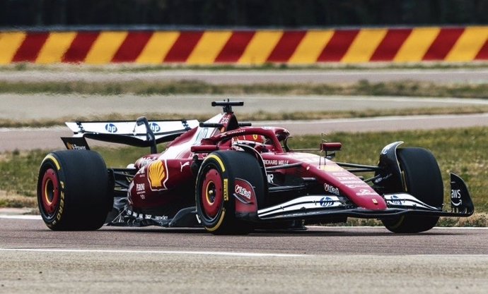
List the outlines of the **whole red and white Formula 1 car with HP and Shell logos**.
{"type": "Polygon", "coordinates": [[[335,162],[342,144],[291,149],[288,130],[238,122],[233,106],[192,121],[66,123],[68,150],[47,154],[37,180],[42,219],[52,230],[103,226],[204,227],[214,234],[255,229],[304,229],[348,217],[380,219],[395,233],[418,233],[439,216],[470,216],[464,181],[451,173],[451,209],[443,210],[443,180],[426,149],[383,148],[377,166],[335,162]],[[86,138],[150,147],[125,169],[105,166],[86,138]],[[169,142],[164,152],[157,145],[169,142]],[[371,176],[358,176],[370,173],[371,176]]]}

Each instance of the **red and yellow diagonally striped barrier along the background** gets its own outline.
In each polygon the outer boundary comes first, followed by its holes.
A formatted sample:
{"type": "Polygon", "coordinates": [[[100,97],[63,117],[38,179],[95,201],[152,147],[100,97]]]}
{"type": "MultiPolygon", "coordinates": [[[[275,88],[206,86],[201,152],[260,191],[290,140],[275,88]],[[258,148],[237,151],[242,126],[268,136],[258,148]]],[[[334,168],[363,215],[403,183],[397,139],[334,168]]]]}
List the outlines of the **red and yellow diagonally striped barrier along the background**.
{"type": "Polygon", "coordinates": [[[0,32],[0,64],[313,64],[488,60],[488,26],[0,32]]]}

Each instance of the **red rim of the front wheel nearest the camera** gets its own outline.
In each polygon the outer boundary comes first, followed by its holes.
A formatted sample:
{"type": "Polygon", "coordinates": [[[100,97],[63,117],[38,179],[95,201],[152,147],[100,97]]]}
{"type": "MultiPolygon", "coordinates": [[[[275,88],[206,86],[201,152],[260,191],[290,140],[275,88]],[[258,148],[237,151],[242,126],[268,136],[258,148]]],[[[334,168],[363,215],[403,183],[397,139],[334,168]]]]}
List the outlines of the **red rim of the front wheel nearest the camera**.
{"type": "Polygon", "coordinates": [[[209,219],[214,219],[219,214],[223,201],[222,177],[218,170],[209,169],[205,173],[201,197],[204,214],[209,219]]]}

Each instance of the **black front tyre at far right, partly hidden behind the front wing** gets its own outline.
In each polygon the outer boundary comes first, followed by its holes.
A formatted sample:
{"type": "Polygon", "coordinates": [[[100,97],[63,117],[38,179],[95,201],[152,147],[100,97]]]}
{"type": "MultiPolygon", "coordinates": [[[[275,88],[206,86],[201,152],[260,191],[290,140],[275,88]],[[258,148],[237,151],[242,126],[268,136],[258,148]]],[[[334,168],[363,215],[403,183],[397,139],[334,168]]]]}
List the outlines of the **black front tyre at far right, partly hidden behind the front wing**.
{"type": "MultiPolygon", "coordinates": [[[[400,169],[405,179],[404,192],[433,207],[443,203],[443,182],[441,171],[434,155],[422,148],[403,148],[397,150],[400,169]]],[[[433,228],[438,216],[400,216],[385,219],[383,224],[394,233],[419,233],[433,228]]]]}

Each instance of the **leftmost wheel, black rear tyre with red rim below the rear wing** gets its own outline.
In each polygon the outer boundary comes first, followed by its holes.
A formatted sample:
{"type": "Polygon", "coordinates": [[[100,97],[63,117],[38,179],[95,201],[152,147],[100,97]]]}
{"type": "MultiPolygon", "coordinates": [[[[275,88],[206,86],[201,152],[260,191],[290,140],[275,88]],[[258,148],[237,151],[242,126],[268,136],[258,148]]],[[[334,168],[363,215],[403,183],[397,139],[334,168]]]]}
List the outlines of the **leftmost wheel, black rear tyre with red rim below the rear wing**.
{"type": "Polygon", "coordinates": [[[100,154],[63,150],[47,154],[42,161],[37,204],[52,230],[96,230],[103,226],[111,203],[108,171],[100,154]]]}

